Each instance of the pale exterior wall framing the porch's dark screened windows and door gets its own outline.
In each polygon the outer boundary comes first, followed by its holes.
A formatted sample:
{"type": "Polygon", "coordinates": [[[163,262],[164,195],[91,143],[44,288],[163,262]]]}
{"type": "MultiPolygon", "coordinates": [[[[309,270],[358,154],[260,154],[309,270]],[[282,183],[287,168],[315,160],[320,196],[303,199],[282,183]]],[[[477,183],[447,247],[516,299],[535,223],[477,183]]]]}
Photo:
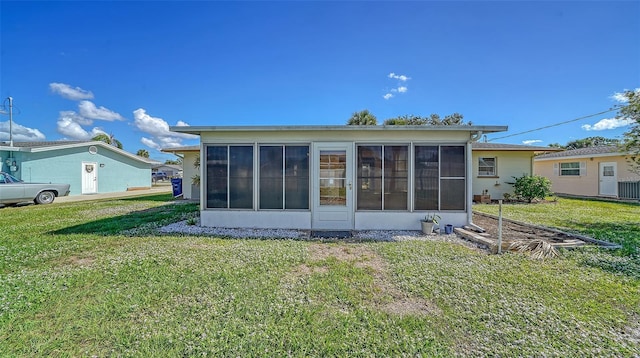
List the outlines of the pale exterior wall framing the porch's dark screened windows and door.
{"type": "MultiPolygon", "coordinates": [[[[452,144],[465,145],[470,139],[467,131],[229,131],[229,132],[202,132],[201,143],[204,146],[210,144],[291,144],[304,143],[313,148],[314,143],[319,142],[345,142],[357,144],[452,144]]],[[[313,153],[313,150],[312,150],[313,153]]],[[[469,155],[469,151],[466,155],[469,155]]],[[[198,153],[199,155],[199,153],[198,153]]],[[[313,155],[313,154],[311,154],[313,155]]],[[[413,155],[413,154],[412,154],[413,155]]],[[[192,167],[193,157],[185,153],[184,156],[184,181],[183,193],[185,198],[192,198],[193,191],[189,188],[189,178],[196,173],[192,167]],[[193,174],[192,174],[193,173],[193,174]],[[188,194],[187,194],[188,193],[188,194]]],[[[355,159],[355,158],[354,158],[355,159]]],[[[468,162],[467,158],[467,164],[468,162]]],[[[310,164],[313,161],[310,162],[310,164]]],[[[202,163],[202,170],[206,172],[206,163],[202,163]]],[[[354,163],[355,165],[355,163],[354,163]]],[[[310,176],[317,175],[310,169],[310,176]]],[[[470,189],[470,170],[467,170],[467,191],[470,189]]],[[[355,176],[354,176],[355,179],[355,176]]],[[[257,180],[254,178],[254,180],[257,180]]],[[[202,183],[204,184],[203,178],[202,183]]],[[[254,182],[255,183],[255,182],[254,182]]],[[[255,185],[255,184],[254,184],[255,185]]],[[[313,186],[310,190],[314,190],[313,186]]],[[[311,193],[310,193],[311,194],[311,193]]],[[[257,195],[257,194],[254,194],[257,195]]],[[[355,198],[355,194],[354,198],[355,198]]],[[[312,229],[313,200],[309,210],[225,210],[206,209],[204,206],[206,194],[201,198],[202,210],[200,213],[201,224],[213,227],[247,227],[247,228],[284,228],[284,229],[312,229]]],[[[470,197],[470,196],[467,196],[470,197]]],[[[439,212],[441,225],[452,224],[465,225],[469,222],[471,206],[467,201],[467,210],[439,212]]],[[[420,230],[420,220],[424,218],[425,211],[357,211],[354,203],[353,228],[355,230],[420,230]]]]}

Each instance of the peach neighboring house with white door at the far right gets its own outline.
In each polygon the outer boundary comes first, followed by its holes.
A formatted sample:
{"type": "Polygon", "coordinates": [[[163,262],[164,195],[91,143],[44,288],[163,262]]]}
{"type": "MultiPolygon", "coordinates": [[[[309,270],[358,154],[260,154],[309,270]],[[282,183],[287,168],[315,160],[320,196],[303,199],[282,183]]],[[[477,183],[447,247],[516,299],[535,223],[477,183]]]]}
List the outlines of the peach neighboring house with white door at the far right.
{"type": "Polygon", "coordinates": [[[534,172],[558,194],[640,199],[640,175],[626,157],[611,146],[573,149],[536,157],[534,172]]]}

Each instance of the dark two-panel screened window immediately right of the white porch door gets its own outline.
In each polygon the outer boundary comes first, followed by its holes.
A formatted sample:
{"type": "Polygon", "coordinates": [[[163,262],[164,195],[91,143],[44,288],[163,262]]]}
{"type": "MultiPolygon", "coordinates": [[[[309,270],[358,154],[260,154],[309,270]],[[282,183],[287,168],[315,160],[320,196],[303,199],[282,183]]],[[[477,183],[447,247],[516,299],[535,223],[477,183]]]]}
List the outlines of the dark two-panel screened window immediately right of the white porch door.
{"type": "Polygon", "coordinates": [[[359,210],[407,210],[408,146],[358,146],[359,210]]]}

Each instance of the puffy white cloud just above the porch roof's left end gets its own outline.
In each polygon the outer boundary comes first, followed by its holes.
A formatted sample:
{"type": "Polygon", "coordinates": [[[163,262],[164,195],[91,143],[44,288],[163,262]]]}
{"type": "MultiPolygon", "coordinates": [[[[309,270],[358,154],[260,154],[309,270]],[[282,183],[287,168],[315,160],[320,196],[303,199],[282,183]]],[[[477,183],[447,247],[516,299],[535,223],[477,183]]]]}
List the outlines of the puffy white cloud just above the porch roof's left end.
{"type": "MultiPolygon", "coordinates": [[[[133,111],[134,126],[140,131],[150,134],[151,138],[142,137],[140,140],[144,145],[154,148],[170,148],[179,147],[182,145],[183,139],[198,138],[193,134],[176,133],[169,130],[169,123],[164,119],[158,117],[152,117],[147,114],[143,108],[138,108],[133,111]]],[[[178,121],[176,126],[188,126],[189,124],[178,121]]]]}

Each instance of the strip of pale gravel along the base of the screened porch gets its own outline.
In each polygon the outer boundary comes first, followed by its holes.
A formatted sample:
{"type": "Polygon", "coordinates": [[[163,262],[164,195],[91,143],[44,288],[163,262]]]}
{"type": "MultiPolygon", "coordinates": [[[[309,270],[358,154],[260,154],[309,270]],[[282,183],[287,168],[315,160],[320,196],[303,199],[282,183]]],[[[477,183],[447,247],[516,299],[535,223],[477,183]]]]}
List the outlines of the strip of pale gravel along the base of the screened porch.
{"type": "MultiPolygon", "coordinates": [[[[219,228],[219,227],[206,227],[196,225],[189,225],[187,221],[180,221],[177,223],[163,226],[160,229],[161,233],[166,234],[187,234],[187,235],[203,235],[203,236],[220,236],[220,237],[233,237],[233,238],[260,238],[260,239],[299,239],[299,240],[315,240],[309,237],[309,230],[292,230],[292,229],[249,229],[249,228],[219,228]]],[[[387,241],[387,242],[399,242],[399,241],[440,241],[451,242],[461,244],[473,249],[483,248],[475,243],[467,241],[456,234],[432,234],[425,235],[421,231],[414,230],[362,230],[353,231],[353,237],[349,239],[335,240],[350,241],[350,240],[363,240],[363,241],[387,241]]],[[[332,240],[323,238],[322,240],[332,240]]]]}

